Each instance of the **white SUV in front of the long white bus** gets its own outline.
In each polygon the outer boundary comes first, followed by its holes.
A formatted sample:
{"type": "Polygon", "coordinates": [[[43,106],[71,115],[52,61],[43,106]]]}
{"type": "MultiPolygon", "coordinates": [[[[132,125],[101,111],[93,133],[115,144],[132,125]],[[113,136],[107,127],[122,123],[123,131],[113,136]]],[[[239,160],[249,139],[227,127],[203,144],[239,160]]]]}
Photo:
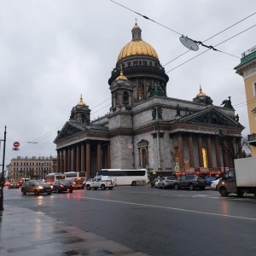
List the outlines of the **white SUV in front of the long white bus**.
{"type": "Polygon", "coordinates": [[[98,176],[86,181],[85,188],[90,189],[113,189],[116,186],[116,178],[113,176],[98,176]]]}

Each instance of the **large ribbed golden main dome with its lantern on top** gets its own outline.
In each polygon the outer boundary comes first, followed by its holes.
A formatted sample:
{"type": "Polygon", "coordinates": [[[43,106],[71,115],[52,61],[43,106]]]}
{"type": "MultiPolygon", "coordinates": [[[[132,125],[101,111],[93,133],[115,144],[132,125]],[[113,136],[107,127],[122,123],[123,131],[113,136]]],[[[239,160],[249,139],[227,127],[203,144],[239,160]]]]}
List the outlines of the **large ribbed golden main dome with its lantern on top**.
{"type": "Polygon", "coordinates": [[[130,43],[126,44],[123,49],[121,49],[117,61],[120,61],[130,55],[150,55],[158,59],[155,49],[150,44],[143,41],[141,32],[142,30],[136,22],[131,30],[132,40],[130,43]]]}

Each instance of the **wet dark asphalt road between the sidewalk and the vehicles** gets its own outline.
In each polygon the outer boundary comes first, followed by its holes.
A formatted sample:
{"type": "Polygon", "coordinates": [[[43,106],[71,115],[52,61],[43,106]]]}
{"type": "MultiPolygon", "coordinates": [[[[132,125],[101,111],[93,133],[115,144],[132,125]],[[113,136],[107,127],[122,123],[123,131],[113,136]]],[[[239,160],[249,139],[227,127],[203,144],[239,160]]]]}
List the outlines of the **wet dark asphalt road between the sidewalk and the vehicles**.
{"type": "Polygon", "coordinates": [[[60,219],[149,255],[256,255],[256,199],[149,185],[21,195],[4,204],[60,219]]]}

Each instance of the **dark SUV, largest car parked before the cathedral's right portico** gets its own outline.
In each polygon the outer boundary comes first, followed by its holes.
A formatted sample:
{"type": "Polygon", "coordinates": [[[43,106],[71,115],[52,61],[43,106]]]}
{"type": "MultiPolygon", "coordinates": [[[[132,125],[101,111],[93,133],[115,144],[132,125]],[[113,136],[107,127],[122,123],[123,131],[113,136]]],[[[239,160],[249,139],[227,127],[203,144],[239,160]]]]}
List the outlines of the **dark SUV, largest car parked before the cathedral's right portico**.
{"type": "Polygon", "coordinates": [[[189,190],[205,189],[207,187],[207,179],[203,175],[189,174],[180,177],[174,182],[174,189],[184,188],[189,190]]]}

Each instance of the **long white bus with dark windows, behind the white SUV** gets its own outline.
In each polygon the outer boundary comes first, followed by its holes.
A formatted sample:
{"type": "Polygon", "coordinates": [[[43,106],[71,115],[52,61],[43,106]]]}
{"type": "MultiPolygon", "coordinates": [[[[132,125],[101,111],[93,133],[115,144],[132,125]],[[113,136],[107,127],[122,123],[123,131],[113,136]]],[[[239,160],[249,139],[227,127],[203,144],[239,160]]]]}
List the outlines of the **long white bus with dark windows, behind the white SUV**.
{"type": "Polygon", "coordinates": [[[146,169],[102,169],[96,172],[96,176],[113,176],[117,180],[117,185],[136,186],[148,183],[148,171],[146,169]]]}

